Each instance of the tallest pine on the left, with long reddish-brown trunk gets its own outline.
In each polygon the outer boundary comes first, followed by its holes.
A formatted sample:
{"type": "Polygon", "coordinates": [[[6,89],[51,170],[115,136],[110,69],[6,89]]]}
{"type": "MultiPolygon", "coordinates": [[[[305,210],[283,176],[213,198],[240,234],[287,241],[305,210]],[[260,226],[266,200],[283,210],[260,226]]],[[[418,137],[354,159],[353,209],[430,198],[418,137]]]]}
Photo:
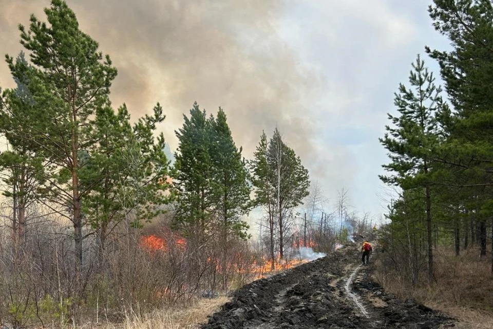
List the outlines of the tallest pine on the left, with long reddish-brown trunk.
{"type": "Polygon", "coordinates": [[[33,150],[50,159],[50,166],[45,166],[49,172],[45,193],[50,202],[70,209],[75,271],[80,274],[81,199],[90,192],[80,188],[79,171],[86,164],[80,157],[97,142],[88,127],[97,109],[109,103],[109,87],[117,70],[108,56],[103,61],[98,43],[79,29],[74,12],[65,2],[52,0],[45,13],[49,26],[34,15],[29,31],[20,26],[21,44],[30,51],[33,66],[14,64],[11,57],[7,62],[12,76],[27,87],[35,100],[23,115],[31,127],[28,139],[33,150]]]}

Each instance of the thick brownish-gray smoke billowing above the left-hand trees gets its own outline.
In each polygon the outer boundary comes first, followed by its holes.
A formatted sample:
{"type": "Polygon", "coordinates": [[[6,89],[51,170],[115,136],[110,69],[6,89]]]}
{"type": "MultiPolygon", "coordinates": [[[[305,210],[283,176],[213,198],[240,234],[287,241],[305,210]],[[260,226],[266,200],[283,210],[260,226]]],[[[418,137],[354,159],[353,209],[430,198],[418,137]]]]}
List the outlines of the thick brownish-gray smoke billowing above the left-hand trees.
{"type": "MultiPolygon", "coordinates": [[[[262,130],[276,126],[308,161],[312,122],[305,98],[321,90],[320,78],[302,67],[279,31],[285,10],[278,0],[68,0],[81,29],[100,43],[119,75],[115,105],[148,113],[160,101],[172,150],[174,131],[194,101],[208,112],[225,109],[234,138],[250,156],[262,130]]],[[[15,55],[17,24],[29,14],[45,20],[49,1],[0,0],[1,52],[15,55]]],[[[9,80],[0,68],[0,85],[9,80]]]]}

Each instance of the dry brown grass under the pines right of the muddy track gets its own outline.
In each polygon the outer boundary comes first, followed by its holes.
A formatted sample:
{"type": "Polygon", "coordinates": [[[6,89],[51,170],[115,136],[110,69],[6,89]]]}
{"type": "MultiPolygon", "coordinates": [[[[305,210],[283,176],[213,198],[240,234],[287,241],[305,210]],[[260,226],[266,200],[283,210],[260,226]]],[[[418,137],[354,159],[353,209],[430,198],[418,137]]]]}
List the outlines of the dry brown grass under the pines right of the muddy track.
{"type": "MultiPolygon", "coordinates": [[[[399,275],[377,275],[384,288],[399,298],[414,298],[460,320],[466,328],[493,328],[493,277],[491,259],[479,258],[477,248],[462,251],[438,249],[434,254],[436,282],[410,287],[399,275]]],[[[426,280],[424,276],[423,281],[426,280]]]]}

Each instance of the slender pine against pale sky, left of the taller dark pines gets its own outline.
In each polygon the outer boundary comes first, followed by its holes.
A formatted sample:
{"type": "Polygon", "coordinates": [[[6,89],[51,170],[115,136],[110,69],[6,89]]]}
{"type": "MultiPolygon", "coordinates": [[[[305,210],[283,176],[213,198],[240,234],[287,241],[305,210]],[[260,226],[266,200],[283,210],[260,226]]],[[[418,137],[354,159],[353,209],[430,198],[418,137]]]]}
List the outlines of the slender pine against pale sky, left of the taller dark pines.
{"type": "Polygon", "coordinates": [[[433,150],[439,143],[437,111],[443,106],[441,88],[435,86],[433,75],[420,56],[412,64],[409,76],[411,88],[400,84],[394,104],[399,116],[389,116],[380,142],[389,151],[391,162],[383,167],[394,174],[381,176],[387,184],[403,189],[422,187],[425,190],[426,223],[428,234],[428,277],[433,279],[432,216],[429,172],[433,150]]]}

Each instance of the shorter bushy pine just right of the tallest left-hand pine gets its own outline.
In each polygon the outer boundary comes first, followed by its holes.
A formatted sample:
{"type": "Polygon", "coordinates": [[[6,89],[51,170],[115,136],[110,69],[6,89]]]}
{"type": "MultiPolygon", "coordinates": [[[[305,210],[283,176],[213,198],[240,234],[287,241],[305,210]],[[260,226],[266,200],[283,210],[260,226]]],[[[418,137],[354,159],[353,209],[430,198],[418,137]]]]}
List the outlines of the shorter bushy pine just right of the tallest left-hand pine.
{"type": "Polygon", "coordinates": [[[153,116],[140,118],[133,127],[125,105],[117,112],[111,107],[98,110],[92,133],[98,143],[89,150],[87,165],[81,169],[81,186],[91,186],[83,200],[86,221],[99,238],[99,263],[107,235],[129,213],[131,225],[141,227],[160,212],[172,196],[165,194],[168,184],[168,160],[164,154],[164,137],[156,139],[156,123],[164,115],[158,104],[153,116]]]}

